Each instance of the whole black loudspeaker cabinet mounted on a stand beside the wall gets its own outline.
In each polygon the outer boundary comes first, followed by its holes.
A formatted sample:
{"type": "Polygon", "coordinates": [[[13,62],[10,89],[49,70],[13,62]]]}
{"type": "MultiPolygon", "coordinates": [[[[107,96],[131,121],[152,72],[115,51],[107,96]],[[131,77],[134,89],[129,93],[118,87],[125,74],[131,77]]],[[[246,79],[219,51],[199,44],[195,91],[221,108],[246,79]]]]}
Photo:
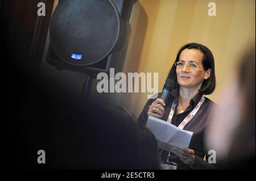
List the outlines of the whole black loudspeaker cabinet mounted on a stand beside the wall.
{"type": "Polygon", "coordinates": [[[86,74],[121,71],[136,1],[59,1],[49,26],[48,64],[86,74]]]}

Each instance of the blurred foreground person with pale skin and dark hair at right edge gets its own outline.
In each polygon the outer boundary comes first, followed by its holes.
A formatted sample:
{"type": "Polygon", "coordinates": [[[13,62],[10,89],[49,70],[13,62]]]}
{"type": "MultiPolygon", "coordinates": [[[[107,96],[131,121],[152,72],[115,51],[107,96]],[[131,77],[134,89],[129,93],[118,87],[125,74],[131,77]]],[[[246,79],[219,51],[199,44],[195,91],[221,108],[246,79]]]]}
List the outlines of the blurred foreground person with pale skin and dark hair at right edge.
{"type": "Polygon", "coordinates": [[[220,97],[208,130],[208,148],[226,160],[226,169],[255,167],[255,44],[242,56],[238,73],[220,97]]]}

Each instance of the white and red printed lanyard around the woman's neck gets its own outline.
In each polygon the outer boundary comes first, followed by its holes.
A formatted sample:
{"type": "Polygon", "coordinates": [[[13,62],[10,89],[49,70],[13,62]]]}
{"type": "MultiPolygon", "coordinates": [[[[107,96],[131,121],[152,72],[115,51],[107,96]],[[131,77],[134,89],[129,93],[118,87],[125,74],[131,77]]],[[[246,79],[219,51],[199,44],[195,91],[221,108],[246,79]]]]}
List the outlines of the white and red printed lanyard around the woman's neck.
{"type": "MultiPolygon", "coordinates": [[[[199,110],[199,108],[201,107],[201,105],[204,103],[205,97],[204,95],[201,97],[199,103],[196,105],[196,107],[189,113],[189,115],[187,115],[185,117],[185,119],[180,123],[179,127],[180,129],[183,129],[185,127],[185,125],[188,124],[189,121],[192,120],[192,118],[196,115],[197,111],[199,110]]],[[[174,102],[172,102],[172,108],[171,108],[171,112],[170,115],[168,116],[167,119],[167,123],[171,123],[172,121],[172,116],[174,116],[174,110],[176,108],[176,102],[174,100],[174,102]]]]}

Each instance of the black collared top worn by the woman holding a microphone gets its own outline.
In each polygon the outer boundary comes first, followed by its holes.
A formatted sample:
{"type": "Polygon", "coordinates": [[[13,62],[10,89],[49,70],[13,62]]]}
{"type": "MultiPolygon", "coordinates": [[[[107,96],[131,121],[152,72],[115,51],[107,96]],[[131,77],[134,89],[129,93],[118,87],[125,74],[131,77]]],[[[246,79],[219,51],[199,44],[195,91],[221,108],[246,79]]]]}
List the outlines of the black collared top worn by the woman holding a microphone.
{"type": "MultiPolygon", "coordinates": [[[[190,101],[189,106],[183,112],[177,115],[177,106],[174,111],[174,116],[172,117],[171,123],[174,124],[176,127],[179,126],[181,121],[185,119],[185,117],[196,107],[197,103],[199,103],[202,94],[196,94],[190,101]]],[[[162,120],[167,121],[168,116],[171,111],[172,102],[179,101],[179,87],[174,89],[171,92],[170,98],[166,102],[166,107],[164,110],[164,115],[161,118],[162,120]]],[[[149,99],[146,105],[143,108],[141,115],[138,118],[139,124],[146,126],[147,123],[147,112],[148,107],[154,102],[155,99],[149,99]]],[[[193,136],[191,138],[191,142],[189,144],[189,149],[193,149],[196,155],[196,162],[195,162],[195,169],[209,169],[212,167],[208,162],[203,160],[204,156],[206,155],[206,159],[208,159],[208,150],[205,150],[204,145],[204,136],[205,136],[205,128],[209,123],[209,118],[212,115],[212,107],[216,105],[212,100],[205,98],[204,103],[201,105],[199,111],[196,115],[192,118],[191,121],[187,125],[185,125],[184,130],[192,131],[193,136]]],[[[169,151],[162,151],[161,159],[162,161],[167,161],[169,151]]],[[[174,153],[171,153],[169,161],[176,162],[178,164],[177,169],[190,169],[188,165],[184,165],[184,163],[177,157],[174,153]]]]}

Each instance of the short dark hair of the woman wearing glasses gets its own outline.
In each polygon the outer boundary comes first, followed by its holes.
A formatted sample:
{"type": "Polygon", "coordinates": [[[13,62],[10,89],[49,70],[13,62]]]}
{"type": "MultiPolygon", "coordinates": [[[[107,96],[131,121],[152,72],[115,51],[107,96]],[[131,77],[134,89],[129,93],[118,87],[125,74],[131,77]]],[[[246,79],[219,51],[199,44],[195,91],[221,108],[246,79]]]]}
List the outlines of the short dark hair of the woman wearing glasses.
{"type": "MultiPolygon", "coordinates": [[[[179,52],[177,53],[175,62],[179,61],[180,53],[184,49],[198,49],[204,54],[204,57],[202,60],[204,70],[211,69],[211,72],[210,72],[210,77],[204,80],[199,92],[204,95],[211,94],[214,91],[215,85],[216,85],[216,78],[215,78],[215,71],[214,71],[214,57],[212,52],[210,52],[209,48],[205,47],[204,45],[201,45],[198,43],[189,43],[180,48],[179,52]]],[[[176,87],[179,86],[177,83],[176,66],[174,64],[172,65],[172,68],[167,78],[173,79],[176,82],[176,87]]]]}

